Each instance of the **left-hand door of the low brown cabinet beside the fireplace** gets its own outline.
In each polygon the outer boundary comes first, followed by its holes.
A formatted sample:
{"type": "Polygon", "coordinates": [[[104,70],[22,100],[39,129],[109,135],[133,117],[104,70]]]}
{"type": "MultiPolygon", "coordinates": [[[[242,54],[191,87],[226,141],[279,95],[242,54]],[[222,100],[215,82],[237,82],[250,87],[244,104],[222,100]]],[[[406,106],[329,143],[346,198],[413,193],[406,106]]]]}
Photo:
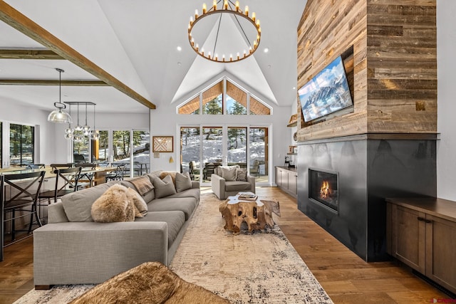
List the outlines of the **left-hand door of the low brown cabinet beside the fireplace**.
{"type": "Polygon", "coordinates": [[[421,273],[425,271],[425,214],[393,205],[392,255],[421,273]]]}

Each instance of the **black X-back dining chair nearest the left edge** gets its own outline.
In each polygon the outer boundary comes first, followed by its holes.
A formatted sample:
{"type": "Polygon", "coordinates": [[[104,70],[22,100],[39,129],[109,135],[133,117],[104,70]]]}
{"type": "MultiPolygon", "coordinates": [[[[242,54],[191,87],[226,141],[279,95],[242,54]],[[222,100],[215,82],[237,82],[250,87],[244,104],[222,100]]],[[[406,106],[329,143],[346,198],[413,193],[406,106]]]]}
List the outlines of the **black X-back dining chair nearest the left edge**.
{"type": "Polygon", "coordinates": [[[16,243],[17,241],[21,241],[21,239],[25,239],[28,236],[31,236],[31,229],[35,221],[38,226],[42,226],[37,213],[37,204],[38,194],[41,190],[41,185],[43,184],[45,173],[46,172],[44,171],[39,171],[19,174],[5,174],[1,176],[0,261],[3,261],[4,247],[16,243]],[[26,216],[30,216],[28,230],[16,229],[16,220],[24,219],[26,216]],[[5,224],[8,222],[11,222],[11,241],[5,245],[3,229],[6,226],[5,224]],[[16,240],[16,232],[20,231],[27,231],[27,235],[24,238],[16,240]]]}

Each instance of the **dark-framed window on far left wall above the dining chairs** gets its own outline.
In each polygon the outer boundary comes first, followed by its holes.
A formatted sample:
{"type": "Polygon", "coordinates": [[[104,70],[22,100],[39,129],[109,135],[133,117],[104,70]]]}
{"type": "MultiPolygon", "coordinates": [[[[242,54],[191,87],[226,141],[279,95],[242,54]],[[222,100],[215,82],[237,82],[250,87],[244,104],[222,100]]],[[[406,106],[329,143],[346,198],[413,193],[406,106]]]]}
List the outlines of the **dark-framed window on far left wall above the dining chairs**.
{"type": "Polygon", "coordinates": [[[33,164],[35,127],[30,125],[9,125],[9,163],[11,167],[25,167],[33,164]]]}

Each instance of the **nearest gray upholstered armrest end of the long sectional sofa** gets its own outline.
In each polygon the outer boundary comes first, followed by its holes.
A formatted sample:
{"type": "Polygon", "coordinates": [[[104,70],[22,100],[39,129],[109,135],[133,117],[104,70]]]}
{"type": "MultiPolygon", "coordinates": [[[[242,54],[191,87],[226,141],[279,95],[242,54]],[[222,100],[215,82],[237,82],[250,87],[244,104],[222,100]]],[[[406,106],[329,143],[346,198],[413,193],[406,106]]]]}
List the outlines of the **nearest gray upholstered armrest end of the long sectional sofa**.
{"type": "Polygon", "coordinates": [[[67,222],[33,231],[35,285],[101,283],[147,261],[167,265],[167,224],[67,222]]]}

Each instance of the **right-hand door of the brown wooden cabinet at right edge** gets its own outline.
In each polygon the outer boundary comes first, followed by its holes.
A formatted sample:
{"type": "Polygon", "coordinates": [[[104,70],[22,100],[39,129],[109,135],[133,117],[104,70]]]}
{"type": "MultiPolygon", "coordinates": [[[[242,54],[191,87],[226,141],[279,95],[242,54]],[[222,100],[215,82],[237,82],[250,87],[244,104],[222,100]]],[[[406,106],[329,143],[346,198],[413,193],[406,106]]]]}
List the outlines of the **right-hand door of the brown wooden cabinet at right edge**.
{"type": "Polygon", "coordinates": [[[456,223],[429,214],[426,221],[425,275],[456,293],[456,223]]]}

